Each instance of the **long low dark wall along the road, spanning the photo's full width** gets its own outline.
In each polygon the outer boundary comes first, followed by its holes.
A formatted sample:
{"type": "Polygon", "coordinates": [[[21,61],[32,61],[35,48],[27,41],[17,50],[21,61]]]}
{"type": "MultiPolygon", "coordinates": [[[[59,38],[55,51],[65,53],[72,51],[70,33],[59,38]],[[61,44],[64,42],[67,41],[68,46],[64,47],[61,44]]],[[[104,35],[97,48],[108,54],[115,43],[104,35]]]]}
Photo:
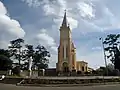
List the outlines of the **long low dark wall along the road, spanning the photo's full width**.
{"type": "Polygon", "coordinates": [[[6,77],[0,83],[17,84],[24,80],[21,84],[91,84],[91,83],[108,83],[120,82],[119,77],[104,78],[82,78],[82,77],[40,77],[40,78],[22,78],[22,77],[6,77]]]}

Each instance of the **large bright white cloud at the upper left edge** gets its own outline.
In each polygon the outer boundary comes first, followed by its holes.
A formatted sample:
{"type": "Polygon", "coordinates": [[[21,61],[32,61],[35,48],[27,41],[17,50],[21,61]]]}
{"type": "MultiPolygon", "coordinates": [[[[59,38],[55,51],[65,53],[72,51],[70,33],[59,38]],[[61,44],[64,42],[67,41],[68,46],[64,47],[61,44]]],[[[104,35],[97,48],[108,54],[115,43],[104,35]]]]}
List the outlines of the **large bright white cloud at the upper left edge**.
{"type": "Polygon", "coordinates": [[[25,35],[19,22],[7,16],[7,10],[2,2],[0,2],[0,32],[1,34],[2,32],[7,32],[17,37],[23,37],[25,35]]]}

